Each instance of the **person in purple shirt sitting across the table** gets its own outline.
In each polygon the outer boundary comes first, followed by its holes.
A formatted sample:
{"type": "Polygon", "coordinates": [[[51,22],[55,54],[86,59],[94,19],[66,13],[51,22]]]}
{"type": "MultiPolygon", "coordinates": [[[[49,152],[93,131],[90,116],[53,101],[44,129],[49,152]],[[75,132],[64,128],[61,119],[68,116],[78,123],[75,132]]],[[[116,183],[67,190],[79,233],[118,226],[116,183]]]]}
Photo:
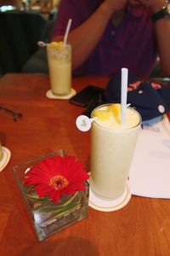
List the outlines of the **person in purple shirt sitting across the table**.
{"type": "Polygon", "coordinates": [[[75,75],[113,75],[127,67],[148,76],[159,53],[170,76],[170,19],[152,16],[164,0],[61,0],[52,41],[62,41],[69,19],[75,75]]]}

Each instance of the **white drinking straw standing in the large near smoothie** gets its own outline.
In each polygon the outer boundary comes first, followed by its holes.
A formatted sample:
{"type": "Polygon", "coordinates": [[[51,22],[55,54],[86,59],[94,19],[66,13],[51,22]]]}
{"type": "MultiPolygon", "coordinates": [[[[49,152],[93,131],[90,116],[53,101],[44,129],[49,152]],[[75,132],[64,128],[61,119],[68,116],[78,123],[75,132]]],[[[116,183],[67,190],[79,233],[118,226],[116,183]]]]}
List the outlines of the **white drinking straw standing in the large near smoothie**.
{"type": "Polygon", "coordinates": [[[121,74],[121,124],[126,123],[128,69],[122,67],[121,74]]]}

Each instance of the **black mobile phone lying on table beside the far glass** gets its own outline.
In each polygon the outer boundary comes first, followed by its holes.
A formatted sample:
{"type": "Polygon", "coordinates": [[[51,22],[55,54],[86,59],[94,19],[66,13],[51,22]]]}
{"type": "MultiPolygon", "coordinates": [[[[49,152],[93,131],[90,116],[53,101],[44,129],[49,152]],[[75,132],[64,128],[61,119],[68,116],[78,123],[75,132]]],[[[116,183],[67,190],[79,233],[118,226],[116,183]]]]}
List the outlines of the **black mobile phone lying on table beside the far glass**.
{"type": "Polygon", "coordinates": [[[81,91],[79,91],[75,96],[72,96],[70,102],[81,107],[87,107],[92,101],[97,99],[99,95],[104,93],[103,88],[98,86],[88,85],[81,91]]]}

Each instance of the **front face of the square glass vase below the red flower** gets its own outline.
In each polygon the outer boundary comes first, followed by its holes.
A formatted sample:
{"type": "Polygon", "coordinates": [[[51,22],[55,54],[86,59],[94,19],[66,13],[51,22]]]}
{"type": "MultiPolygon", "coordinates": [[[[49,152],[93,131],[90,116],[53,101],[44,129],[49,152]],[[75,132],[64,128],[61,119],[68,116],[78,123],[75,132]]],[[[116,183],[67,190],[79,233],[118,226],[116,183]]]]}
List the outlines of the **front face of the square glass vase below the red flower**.
{"type": "Polygon", "coordinates": [[[88,217],[87,190],[77,191],[70,198],[61,197],[57,204],[46,202],[37,208],[31,208],[34,227],[39,241],[46,239],[55,232],[65,229],[71,224],[88,217]]]}

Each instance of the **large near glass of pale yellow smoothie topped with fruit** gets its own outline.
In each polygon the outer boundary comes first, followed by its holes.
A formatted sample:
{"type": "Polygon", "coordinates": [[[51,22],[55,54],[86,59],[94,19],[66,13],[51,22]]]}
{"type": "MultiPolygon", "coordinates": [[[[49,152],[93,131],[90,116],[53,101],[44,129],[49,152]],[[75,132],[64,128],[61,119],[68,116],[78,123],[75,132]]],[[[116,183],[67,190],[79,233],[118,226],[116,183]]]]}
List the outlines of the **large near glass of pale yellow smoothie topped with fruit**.
{"type": "Polygon", "coordinates": [[[90,187],[94,194],[117,198],[126,189],[127,177],[141,118],[127,108],[126,125],[121,125],[121,105],[108,104],[95,108],[92,117],[90,187]]]}

